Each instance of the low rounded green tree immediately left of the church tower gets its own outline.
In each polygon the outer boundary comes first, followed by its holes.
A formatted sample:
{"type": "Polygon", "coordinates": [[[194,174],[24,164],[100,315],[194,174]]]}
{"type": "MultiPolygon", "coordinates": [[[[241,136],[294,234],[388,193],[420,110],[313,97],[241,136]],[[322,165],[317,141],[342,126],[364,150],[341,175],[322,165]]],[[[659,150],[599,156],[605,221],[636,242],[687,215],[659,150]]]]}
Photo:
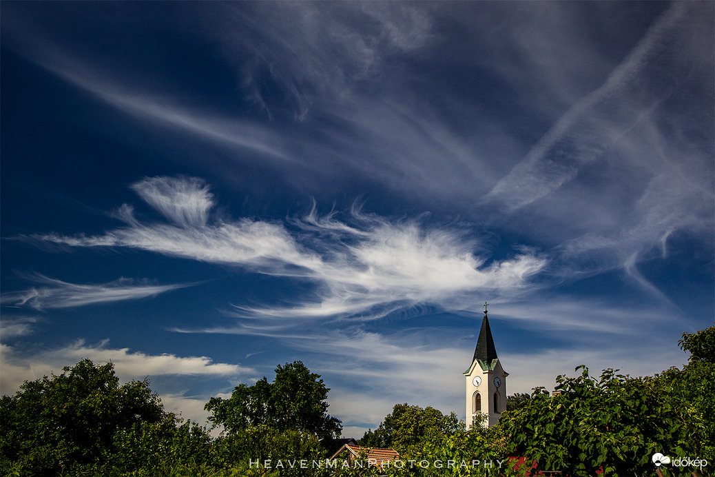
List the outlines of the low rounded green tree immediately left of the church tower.
{"type": "Polygon", "coordinates": [[[365,433],[360,444],[404,451],[430,436],[452,435],[463,428],[464,424],[455,413],[443,415],[435,408],[395,404],[393,412],[385,416],[380,427],[365,433]]]}

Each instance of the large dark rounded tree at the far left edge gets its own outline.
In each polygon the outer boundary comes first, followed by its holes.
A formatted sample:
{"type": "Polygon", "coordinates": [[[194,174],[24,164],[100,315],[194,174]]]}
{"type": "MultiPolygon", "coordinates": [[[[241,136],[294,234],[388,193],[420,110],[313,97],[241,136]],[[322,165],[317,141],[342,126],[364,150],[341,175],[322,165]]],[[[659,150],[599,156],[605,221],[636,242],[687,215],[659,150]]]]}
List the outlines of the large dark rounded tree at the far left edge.
{"type": "Polygon", "coordinates": [[[0,456],[31,473],[58,473],[111,453],[120,429],[163,417],[147,380],[119,385],[112,363],[82,360],[1,398],[0,456]]]}

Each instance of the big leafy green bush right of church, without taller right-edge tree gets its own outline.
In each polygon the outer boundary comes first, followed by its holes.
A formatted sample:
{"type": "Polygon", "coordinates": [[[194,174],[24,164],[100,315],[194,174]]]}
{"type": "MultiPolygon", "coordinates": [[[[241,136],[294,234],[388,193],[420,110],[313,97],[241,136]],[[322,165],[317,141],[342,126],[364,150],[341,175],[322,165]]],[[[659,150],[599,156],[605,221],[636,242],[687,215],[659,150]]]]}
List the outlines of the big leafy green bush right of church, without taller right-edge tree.
{"type": "Polygon", "coordinates": [[[576,378],[558,376],[553,396],[536,388],[527,405],[502,415],[511,455],[574,476],[592,476],[601,466],[606,476],[650,472],[650,456],[664,449],[694,455],[684,416],[664,399],[664,380],[610,369],[595,380],[585,366],[578,369],[576,378]]]}

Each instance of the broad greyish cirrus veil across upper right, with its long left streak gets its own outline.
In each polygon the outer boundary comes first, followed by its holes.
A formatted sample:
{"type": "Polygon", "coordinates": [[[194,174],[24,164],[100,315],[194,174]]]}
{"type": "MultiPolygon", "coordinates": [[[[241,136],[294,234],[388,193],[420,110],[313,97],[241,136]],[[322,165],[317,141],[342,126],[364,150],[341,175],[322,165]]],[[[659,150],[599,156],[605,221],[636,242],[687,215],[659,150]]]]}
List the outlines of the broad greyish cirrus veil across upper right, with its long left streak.
{"type": "MultiPolygon", "coordinates": [[[[624,267],[628,257],[641,257],[669,230],[701,232],[700,225],[711,222],[712,215],[707,206],[712,202],[707,180],[712,175],[708,125],[712,121],[711,112],[699,100],[708,94],[708,82],[696,77],[707,72],[711,63],[711,46],[701,41],[709,37],[709,6],[676,4],[665,9],[621,64],[613,63],[613,57],[579,27],[586,21],[581,9],[563,4],[523,8],[526,13],[480,6],[445,14],[418,4],[350,4],[330,9],[284,4],[282,8],[222,5],[204,11],[199,21],[210,26],[206,34],[217,41],[227,61],[242,59],[236,65],[242,89],[266,109],[280,108],[267,104],[270,99],[261,91],[260,85],[270,82],[281,93],[270,96],[281,102],[292,98],[297,117],[306,119],[310,109],[319,112],[321,120],[310,122],[309,128],[317,134],[306,134],[308,129],[301,126],[305,122],[275,127],[118,82],[117,75],[51,46],[41,34],[26,39],[22,53],[131,114],[145,127],[176,128],[187,138],[227,146],[232,152],[250,149],[262,162],[289,170],[287,175],[298,187],[315,181],[316,190],[329,189],[333,173],[345,174],[344,180],[356,172],[413,200],[426,197],[449,207],[458,203],[456,212],[471,220],[513,224],[547,247],[568,242],[555,255],[588,249],[584,252],[588,257],[566,256],[574,264],[567,273],[578,274],[594,261],[599,270],[624,267]],[[445,15],[460,14],[463,18],[452,18],[455,26],[470,19],[480,25],[478,41],[470,47],[481,53],[448,55],[447,64],[466,61],[494,70],[503,84],[518,86],[519,92],[526,91],[525,78],[535,82],[538,86],[533,88],[540,92],[548,90],[545,98],[541,93],[521,98],[521,107],[561,115],[546,117],[551,128],[536,144],[505,129],[503,118],[472,117],[469,102],[455,104],[439,89],[430,89],[433,96],[427,105],[418,99],[418,89],[400,87],[398,94],[378,87],[378,79],[403,84],[405,78],[390,69],[390,61],[409,71],[408,59],[414,61],[416,53],[439,51],[441,42],[453,39],[440,21],[445,15]],[[543,36],[541,19],[546,18],[554,28],[543,36]],[[520,28],[506,35],[493,28],[511,21],[520,28]],[[244,27],[253,34],[241,34],[244,27]],[[493,53],[483,44],[493,44],[493,53]],[[594,67],[598,75],[593,75],[594,67]],[[591,81],[594,76],[603,77],[603,84],[595,84],[591,91],[583,89],[579,79],[591,81]],[[363,83],[375,94],[356,94],[363,83]],[[689,104],[687,111],[674,110],[671,97],[689,104]],[[318,104],[318,98],[329,99],[318,104]],[[340,107],[335,106],[338,103],[340,107]],[[445,119],[445,112],[439,111],[441,103],[450,114],[458,112],[475,122],[468,137],[455,132],[456,118],[445,119]],[[699,128],[704,140],[685,139],[699,128]],[[521,149],[526,157],[520,156],[521,149]],[[306,170],[310,174],[304,174],[306,170]],[[666,189],[656,189],[659,193],[654,195],[644,190],[646,184],[666,189]],[[488,207],[494,204],[498,205],[495,213],[488,207]],[[693,210],[693,204],[704,206],[693,210]],[[555,226],[541,227],[529,220],[555,226]],[[598,233],[583,234],[583,230],[598,233]]],[[[613,12],[599,6],[598,13],[603,22],[603,18],[610,21],[613,12]]],[[[252,162],[244,156],[233,154],[232,160],[252,162]]]]}

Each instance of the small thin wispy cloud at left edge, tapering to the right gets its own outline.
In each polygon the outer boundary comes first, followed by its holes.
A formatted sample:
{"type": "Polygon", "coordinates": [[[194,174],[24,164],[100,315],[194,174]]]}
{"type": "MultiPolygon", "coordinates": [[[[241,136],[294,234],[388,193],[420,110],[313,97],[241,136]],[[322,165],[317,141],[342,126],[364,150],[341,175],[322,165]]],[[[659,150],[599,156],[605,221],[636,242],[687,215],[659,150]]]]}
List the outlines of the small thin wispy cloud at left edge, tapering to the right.
{"type": "Polygon", "coordinates": [[[25,276],[38,285],[26,290],[5,292],[0,295],[0,303],[16,308],[30,307],[36,310],[73,308],[122,300],[139,300],[189,286],[185,284],[150,285],[146,282],[136,283],[129,278],[119,278],[114,282],[99,285],[80,285],[41,274],[25,276]]]}

